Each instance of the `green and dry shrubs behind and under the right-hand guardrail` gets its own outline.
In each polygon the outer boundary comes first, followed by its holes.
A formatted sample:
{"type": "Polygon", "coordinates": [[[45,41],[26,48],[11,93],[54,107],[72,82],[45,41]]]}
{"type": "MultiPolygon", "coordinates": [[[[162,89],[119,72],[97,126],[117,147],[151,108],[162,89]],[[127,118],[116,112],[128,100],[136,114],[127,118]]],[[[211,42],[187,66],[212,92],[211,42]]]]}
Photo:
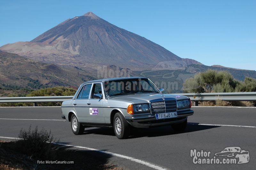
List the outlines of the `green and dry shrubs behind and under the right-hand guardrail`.
{"type": "MultiPolygon", "coordinates": [[[[256,79],[245,77],[244,81],[236,80],[227,71],[207,70],[197,73],[194,77],[187,79],[184,84],[184,93],[222,93],[222,92],[255,92],[256,79]]],[[[254,102],[226,102],[222,100],[200,102],[206,106],[253,106],[254,102]]]]}

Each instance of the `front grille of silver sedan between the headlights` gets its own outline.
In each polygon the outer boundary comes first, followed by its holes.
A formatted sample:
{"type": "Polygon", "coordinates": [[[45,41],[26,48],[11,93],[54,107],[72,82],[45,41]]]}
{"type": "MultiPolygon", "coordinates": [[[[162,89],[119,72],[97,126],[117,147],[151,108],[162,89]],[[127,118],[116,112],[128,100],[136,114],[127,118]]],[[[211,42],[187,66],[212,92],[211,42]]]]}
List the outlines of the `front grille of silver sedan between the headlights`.
{"type": "Polygon", "coordinates": [[[162,101],[151,101],[151,113],[166,113],[166,112],[176,112],[177,103],[176,100],[162,100],[162,101]]]}

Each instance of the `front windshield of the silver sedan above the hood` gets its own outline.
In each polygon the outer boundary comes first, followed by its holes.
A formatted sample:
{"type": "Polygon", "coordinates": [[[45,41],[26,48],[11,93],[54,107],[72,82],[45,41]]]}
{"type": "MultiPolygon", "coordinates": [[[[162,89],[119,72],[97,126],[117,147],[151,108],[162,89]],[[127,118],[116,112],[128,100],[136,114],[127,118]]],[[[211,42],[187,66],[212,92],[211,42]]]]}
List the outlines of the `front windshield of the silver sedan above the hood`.
{"type": "Polygon", "coordinates": [[[107,97],[124,95],[124,94],[135,94],[135,93],[146,93],[154,92],[159,93],[155,85],[148,79],[128,79],[128,80],[116,80],[116,81],[105,81],[105,93],[107,97]]]}

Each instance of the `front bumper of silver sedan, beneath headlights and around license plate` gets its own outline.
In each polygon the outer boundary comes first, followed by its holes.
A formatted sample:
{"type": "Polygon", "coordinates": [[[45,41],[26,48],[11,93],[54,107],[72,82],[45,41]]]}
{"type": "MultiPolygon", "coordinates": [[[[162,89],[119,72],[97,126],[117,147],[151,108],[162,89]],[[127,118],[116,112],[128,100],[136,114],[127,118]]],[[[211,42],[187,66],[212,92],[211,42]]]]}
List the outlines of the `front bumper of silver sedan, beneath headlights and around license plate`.
{"type": "Polygon", "coordinates": [[[193,115],[193,110],[186,111],[177,111],[177,117],[169,118],[169,119],[156,119],[155,115],[142,115],[142,116],[125,116],[125,120],[127,120],[134,127],[147,128],[152,126],[162,126],[169,124],[182,123],[187,120],[187,117],[193,115]]]}

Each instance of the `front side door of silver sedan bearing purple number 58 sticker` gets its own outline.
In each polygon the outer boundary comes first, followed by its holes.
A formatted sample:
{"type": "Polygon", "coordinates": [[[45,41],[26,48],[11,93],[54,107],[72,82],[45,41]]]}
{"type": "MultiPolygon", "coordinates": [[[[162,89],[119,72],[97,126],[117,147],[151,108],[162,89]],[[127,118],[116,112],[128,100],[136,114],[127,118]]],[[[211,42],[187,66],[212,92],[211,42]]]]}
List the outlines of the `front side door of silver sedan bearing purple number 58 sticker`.
{"type": "Polygon", "coordinates": [[[88,112],[89,112],[89,122],[105,124],[104,118],[104,102],[102,93],[102,83],[93,83],[92,93],[88,100],[88,112]]]}

